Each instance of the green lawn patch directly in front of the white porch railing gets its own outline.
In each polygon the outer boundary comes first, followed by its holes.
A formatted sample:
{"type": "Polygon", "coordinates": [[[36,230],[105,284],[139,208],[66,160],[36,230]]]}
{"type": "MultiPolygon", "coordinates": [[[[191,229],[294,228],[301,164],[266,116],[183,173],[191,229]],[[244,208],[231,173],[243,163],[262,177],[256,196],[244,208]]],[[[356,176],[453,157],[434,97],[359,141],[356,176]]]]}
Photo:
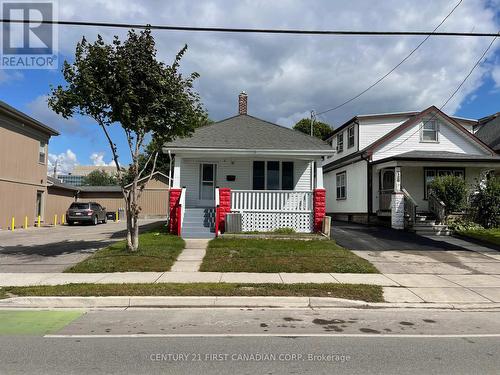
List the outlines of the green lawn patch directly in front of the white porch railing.
{"type": "Polygon", "coordinates": [[[335,241],[216,238],[201,271],[378,273],[367,260],[335,241]]]}

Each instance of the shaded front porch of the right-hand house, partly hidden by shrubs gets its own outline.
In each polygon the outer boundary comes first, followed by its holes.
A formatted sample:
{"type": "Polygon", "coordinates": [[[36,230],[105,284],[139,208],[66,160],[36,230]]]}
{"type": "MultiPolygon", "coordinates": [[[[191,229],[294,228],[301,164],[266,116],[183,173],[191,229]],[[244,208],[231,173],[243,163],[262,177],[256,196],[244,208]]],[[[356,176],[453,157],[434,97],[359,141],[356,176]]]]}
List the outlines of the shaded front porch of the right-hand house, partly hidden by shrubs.
{"type": "Polygon", "coordinates": [[[441,219],[445,207],[430,192],[439,176],[453,175],[465,180],[472,190],[482,179],[500,174],[498,157],[453,160],[397,160],[376,162],[371,168],[371,209],[378,217],[391,217],[393,227],[412,226],[416,215],[431,214],[441,219]],[[399,207],[402,202],[402,207],[399,207]],[[403,212],[404,220],[395,220],[403,212]]]}

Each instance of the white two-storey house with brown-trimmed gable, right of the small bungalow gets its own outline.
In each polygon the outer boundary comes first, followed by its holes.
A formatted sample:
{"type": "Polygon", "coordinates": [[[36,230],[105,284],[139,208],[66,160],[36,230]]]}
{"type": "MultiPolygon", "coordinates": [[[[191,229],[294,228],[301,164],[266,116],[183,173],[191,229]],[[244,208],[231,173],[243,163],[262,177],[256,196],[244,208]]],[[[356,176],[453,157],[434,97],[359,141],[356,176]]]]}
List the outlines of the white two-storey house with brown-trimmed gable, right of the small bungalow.
{"type": "Polygon", "coordinates": [[[337,151],[323,163],[327,214],[362,223],[385,220],[398,229],[446,230],[431,217],[443,212],[442,202],[429,194],[431,181],[453,174],[472,186],[500,172],[500,157],[474,135],[475,125],[434,106],[353,117],[327,140],[337,151]]]}

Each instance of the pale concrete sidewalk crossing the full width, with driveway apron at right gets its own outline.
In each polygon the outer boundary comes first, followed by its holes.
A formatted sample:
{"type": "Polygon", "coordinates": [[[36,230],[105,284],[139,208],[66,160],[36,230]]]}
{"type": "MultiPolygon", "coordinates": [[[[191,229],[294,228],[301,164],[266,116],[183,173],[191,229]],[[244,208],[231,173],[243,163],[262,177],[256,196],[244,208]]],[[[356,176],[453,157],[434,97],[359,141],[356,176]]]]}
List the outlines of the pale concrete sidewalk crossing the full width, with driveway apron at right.
{"type": "Polygon", "coordinates": [[[500,303],[500,275],[244,272],[0,273],[0,286],[208,282],[368,284],[384,287],[385,300],[393,303],[500,303]]]}

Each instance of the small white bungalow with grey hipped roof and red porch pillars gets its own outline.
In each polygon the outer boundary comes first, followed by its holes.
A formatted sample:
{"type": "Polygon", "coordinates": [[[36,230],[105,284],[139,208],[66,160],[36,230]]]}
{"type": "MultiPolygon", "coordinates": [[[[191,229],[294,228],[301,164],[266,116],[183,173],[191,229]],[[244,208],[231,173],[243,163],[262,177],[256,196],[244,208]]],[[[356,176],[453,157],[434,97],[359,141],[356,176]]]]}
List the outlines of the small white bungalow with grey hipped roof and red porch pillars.
{"type": "Polygon", "coordinates": [[[227,213],[239,231],[319,229],[324,217],[322,159],[326,142],[247,114],[198,128],[163,147],[174,156],[170,229],[183,237],[225,230],[227,213]]]}

